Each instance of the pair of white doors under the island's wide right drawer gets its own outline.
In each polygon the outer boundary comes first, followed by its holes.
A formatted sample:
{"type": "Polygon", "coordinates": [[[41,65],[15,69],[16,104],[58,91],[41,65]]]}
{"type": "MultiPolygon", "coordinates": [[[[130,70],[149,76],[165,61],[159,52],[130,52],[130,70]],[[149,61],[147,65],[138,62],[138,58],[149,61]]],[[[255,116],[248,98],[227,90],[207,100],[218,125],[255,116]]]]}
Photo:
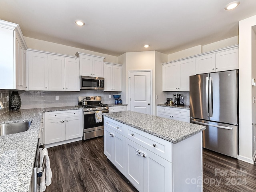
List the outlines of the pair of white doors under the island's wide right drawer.
{"type": "Polygon", "coordinates": [[[126,138],[126,177],[144,192],[172,191],[172,163],[126,138]]]}

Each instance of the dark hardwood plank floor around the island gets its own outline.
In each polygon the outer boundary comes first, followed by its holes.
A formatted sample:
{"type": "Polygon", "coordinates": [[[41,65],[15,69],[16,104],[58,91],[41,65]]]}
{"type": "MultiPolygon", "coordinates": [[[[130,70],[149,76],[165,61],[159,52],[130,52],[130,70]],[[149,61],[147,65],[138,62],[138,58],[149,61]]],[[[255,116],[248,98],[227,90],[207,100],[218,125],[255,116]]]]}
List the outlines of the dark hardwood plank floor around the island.
{"type": "MultiPolygon", "coordinates": [[[[104,155],[103,137],[48,148],[48,153],[53,179],[46,192],[137,191],[104,155]]],[[[202,182],[204,192],[256,192],[256,166],[203,150],[202,182]]]]}

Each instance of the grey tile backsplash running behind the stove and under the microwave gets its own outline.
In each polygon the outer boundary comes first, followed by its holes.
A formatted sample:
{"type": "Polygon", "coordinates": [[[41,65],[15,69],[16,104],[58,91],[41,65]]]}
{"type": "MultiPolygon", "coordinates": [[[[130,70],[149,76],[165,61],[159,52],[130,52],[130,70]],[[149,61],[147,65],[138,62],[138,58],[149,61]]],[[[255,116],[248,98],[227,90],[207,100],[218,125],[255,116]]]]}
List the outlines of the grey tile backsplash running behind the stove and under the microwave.
{"type": "Polygon", "coordinates": [[[122,94],[122,92],[104,92],[102,90],[18,91],[18,93],[22,102],[20,109],[74,106],[78,104],[78,96],[102,96],[102,103],[110,104],[115,102],[113,94],[122,94]],[[56,100],[55,96],[59,96],[59,100],[56,100]]]}

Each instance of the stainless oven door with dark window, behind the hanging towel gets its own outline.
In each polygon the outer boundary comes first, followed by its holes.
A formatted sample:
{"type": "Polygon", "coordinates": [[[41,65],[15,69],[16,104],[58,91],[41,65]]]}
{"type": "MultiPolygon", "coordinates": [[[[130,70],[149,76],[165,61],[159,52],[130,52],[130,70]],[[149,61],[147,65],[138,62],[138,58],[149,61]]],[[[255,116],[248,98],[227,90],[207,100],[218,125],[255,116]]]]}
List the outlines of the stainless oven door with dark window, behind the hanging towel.
{"type": "MultiPolygon", "coordinates": [[[[102,113],[108,113],[108,110],[102,110],[102,113]]],[[[84,112],[84,132],[103,129],[103,115],[102,122],[96,123],[95,111],[84,112]]]]}

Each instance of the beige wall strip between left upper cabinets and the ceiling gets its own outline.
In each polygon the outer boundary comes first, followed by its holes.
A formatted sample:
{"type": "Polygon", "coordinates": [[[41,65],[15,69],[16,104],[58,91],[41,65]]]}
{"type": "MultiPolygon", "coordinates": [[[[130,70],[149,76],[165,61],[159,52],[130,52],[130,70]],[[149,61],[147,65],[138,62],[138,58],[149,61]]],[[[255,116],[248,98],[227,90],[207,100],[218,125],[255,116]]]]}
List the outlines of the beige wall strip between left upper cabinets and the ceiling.
{"type": "Polygon", "coordinates": [[[62,44],[52,43],[52,42],[29,38],[29,37],[24,37],[24,39],[26,41],[28,48],[31,48],[31,49],[48,51],[53,53],[60,53],[60,54],[71,55],[71,56],[75,56],[76,52],[82,52],[82,53],[105,57],[104,59],[105,62],[112,62],[112,63],[118,62],[118,58],[112,55],[102,54],[102,53],[98,53],[90,50],[79,49],[76,47],[66,46],[62,44]]]}

